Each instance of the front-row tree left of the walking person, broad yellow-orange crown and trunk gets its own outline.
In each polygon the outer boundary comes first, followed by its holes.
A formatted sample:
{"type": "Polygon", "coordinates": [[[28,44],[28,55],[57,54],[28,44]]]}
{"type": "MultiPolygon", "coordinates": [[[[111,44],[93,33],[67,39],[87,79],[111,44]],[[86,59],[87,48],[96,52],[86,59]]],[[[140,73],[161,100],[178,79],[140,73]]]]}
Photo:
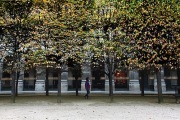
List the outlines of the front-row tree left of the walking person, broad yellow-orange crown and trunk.
{"type": "Polygon", "coordinates": [[[40,3],[37,4],[34,15],[39,16],[39,20],[32,33],[35,37],[24,45],[27,49],[24,57],[30,66],[45,65],[59,70],[58,102],[61,102],[61,73],[67,68],[68,59],[78,61],[78,64],[85,61],[90,3],[55,0],[45,1],[40,7],[40,3]]]}

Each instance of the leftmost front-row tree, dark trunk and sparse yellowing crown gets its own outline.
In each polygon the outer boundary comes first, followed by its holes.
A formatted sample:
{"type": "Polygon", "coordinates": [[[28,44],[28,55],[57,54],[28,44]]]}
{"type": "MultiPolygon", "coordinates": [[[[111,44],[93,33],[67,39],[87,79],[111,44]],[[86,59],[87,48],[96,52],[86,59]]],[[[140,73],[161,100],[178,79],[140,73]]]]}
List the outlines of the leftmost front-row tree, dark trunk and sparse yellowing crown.
{"type": "MultiPolygon", "coordinates": [[[[30,37],[31,27],[27,24],[27,18],[31,11],[32,1],[1,1],[1,46],[3,53],[12,55],[13,61],[6,69],[13,74],[12,77],[12,102],[15,102],[15,94],[17,95],[18,78],[22,70],[21,52],[19,49],[22,43],[30,37]],[[15,88],[16,81],[16,88],[15,88]]],[[[4,56],[5,58],[5,56],[4,56]]]]}

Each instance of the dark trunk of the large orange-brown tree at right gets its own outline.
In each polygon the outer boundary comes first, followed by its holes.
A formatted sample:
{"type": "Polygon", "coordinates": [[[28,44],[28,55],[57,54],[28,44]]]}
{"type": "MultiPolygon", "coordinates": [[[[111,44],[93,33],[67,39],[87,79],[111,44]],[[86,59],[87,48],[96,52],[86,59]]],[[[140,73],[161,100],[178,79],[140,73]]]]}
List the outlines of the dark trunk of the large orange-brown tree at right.
{"type": "Polygon", "coordinates": [[[162,96],[162,85],[161,85],[161,69],[157,69],[156,74],[157,74],[158,103],[162,103],[163,96],[162,96]]]}

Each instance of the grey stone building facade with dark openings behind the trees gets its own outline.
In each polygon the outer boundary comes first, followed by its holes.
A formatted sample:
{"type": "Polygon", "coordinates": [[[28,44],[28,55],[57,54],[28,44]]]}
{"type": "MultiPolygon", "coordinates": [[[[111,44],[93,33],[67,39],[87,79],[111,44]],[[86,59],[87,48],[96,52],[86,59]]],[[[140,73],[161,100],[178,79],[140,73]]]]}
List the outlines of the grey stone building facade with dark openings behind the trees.
{"type": "MultiPolygon", "coordinates": [[[[62,92],[75,91],[76,83],[72,72],[62,73],[61,89],[62,92]]],[[[85,78],[90,78],[91,92],[109,92],[109,80],[105,74],[92,74],[93,68],[90,65],[82,67],[82,76],[78,79],[79,92],[85,92],[85,78]]],[[[57,71],[49,68],[49,91],[57,91],[58,75],[57,71]]],[[[18,80],[18,91],[45,91],[45,68],[37,68],[29,71],[21,71],[18,80]]],[[[163,69],[161,71],[161,83],[163,92],[173,91],[173,86],[177,85],[177,71],[163,69]]],[[[0,92],[11,91],[11,75],[3,72],[3,62],[0,63],[0,92]]],[[[137,70],[116,71],[113,76],[113,91],[114,93],[139,93],[140,94],[139,72],[137,70]]],[[[148,93],[157,93],[157,79],[153,72],[147,74],[144,79],[145,91],[148,93]]]]}

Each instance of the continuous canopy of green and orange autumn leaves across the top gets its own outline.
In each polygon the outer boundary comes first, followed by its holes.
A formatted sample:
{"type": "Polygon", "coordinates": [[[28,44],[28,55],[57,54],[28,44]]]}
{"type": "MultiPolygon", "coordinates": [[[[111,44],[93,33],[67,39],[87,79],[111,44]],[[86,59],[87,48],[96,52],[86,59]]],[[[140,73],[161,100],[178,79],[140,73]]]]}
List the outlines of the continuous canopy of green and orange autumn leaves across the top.
{"type": "Polygon", "coordinates": [[[177,67],[180,59],[177,0],[0,3],[0,31],[6,37],[2,53],[16,39],[26,69],[59,66],[69,59],[79,64],[92,60],[96,67],[109,58],[117,68],[177,67]]]}

